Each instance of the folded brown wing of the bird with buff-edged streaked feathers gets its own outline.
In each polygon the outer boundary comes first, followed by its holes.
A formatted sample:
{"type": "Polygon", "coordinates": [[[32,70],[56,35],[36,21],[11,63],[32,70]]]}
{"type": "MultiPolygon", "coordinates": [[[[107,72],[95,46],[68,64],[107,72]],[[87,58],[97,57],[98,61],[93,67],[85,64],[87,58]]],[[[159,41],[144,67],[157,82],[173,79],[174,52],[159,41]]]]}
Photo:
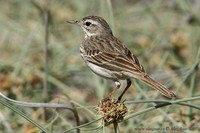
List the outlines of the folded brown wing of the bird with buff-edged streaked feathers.
{"type": "Polygon", "coordinates": [[[117,38],[101,38],[84,42],[84,60],[112,71],[144,72],[137,57],[117,38]]]}

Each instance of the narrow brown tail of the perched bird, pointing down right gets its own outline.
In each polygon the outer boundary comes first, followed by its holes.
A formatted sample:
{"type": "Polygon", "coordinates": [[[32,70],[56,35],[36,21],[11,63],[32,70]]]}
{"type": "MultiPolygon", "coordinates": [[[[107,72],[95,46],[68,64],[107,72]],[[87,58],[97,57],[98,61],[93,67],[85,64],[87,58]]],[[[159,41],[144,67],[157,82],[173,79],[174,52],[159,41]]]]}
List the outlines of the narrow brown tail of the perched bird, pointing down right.
{"type": "Polygon", "coordinates": [[[153,80],[148,75],[145,75],[144,77],[142,77],[141,80],[144,81],[147,85],[152,86],[154,89],[158,90],[161,94],[163,94],[164,96],[168,98],[176,97],[176,94],[174,92],[170,91],[167,87],[165,87],[161,83],[153,80]]]}

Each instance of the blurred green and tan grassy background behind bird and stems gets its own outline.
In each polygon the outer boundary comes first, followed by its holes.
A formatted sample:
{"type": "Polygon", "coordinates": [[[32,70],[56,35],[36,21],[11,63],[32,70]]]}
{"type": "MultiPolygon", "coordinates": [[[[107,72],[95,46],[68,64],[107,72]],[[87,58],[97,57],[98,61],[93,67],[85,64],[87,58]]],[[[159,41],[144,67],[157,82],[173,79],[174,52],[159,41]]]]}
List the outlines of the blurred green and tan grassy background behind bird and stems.
{"type": "MultiPolygon", "coordinates": [[[[114,83],[93,74],[82,61],[79,44],[84,32],[67,24],[66,20],[88,15],[105,18],[114,35],[139,58],[154,79],[176,92],[178,98],[200,96],[199,0],[1,0],[0,91],[6,96],[27,102],[44,102],[45,9],[49,10],[45,102],[69,103],[70,98],[81,107],[78,108],[81,124],[97,118],[94,107],[112,90],[114,83]]],[[[136,83],[149,98],[165,99],[136,81],[125,94],[126,101],[145,99],[136,83]]],[[[121,91],[122,88],[116,96],[121,91]]],[[[193,103],[200,104],[199,101],[193,103]]],[[[131,113],[150,104],[127,106],[131,113]]],[[[41,108],[18,108],[52,132],[75,126],[68,110],[48,109],[44,119],[41,108]]],[[[142,132],[135,128],[177,125],[189,128],[200,123],[199,110],[178,105],[162,109],[172,121],[155,110],[122,122],[120,131],[142,132]]],[[[34,133],[38,129],[0,105],[0,131],[34,133]]],[[[113,132],[113,127],[106,127],[106,132],[113,132]]]]}

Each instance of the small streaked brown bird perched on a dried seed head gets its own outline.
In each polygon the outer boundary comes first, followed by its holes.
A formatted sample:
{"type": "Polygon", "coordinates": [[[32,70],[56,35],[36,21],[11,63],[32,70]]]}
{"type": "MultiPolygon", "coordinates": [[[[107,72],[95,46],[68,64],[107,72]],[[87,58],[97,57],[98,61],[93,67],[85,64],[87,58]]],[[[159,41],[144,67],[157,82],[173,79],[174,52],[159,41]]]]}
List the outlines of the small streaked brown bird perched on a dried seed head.
{"type": "Polygon", "coordinates": [[[116,84],[108,97],[120,88],[120,80],[126,80],[126,87],[118,97],[120,101],[131,86],[131,79],[143,81],[168,98],[176,97],[174,92],[145,72],[137,57],[113,35],[109,24],[102,17],[86,16],[67,22],[80,26],[85,32],[80,44],[80,54],[87,66],[95,74],[116,84]]]}

